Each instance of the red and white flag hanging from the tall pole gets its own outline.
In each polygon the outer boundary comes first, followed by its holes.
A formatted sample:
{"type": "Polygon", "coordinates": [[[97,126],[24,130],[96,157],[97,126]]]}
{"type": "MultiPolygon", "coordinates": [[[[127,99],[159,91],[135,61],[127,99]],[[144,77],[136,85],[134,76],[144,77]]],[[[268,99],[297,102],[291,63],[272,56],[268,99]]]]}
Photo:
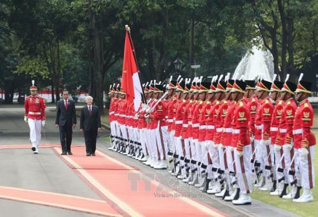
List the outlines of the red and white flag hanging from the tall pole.
{"type": "Polygon", "coordinates": [[[142,102],[143,90],[129,37],[128,31],[126,31],[121,87],[126,93],[128,105],[134,102],[134,108],[137,111],[142,102]]]}

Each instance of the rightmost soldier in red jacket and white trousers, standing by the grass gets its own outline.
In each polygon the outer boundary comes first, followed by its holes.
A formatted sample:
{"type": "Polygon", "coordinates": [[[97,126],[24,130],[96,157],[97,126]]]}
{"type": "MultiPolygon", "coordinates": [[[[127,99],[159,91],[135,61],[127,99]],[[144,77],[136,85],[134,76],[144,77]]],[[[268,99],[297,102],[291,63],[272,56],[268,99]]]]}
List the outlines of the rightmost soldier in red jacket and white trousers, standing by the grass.
{"type": "Polygon", "coordinates": [[[302,81],[302,74],[297,85],[296,101],[299,106],[296,110],[293,134],[294,149],[300,162],[300,173],[303,186],[303,194],[293,202],[306,203],[314,200],[312,189],[315,187],[314,174],[314,147],[316,145],[316,137],[311,132],[314,121],[314,110],[310,104],[308,97],[312,94],[311,83],[302,81]]]}

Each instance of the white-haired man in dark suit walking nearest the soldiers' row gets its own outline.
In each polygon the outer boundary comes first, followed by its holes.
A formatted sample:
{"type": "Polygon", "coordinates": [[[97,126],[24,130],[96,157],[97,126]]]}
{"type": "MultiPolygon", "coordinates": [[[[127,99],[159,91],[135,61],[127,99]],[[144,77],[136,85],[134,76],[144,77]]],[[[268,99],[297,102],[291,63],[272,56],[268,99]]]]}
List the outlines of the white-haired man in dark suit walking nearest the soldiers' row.
{"type": "Polygon", "coordinates": [[[80,131],[84,132],[86,156],[95,156],[97,131],[101,130],[100,114],[97,106],[93,106],[93,98],[87,96],[80,113],[80,131]]]}

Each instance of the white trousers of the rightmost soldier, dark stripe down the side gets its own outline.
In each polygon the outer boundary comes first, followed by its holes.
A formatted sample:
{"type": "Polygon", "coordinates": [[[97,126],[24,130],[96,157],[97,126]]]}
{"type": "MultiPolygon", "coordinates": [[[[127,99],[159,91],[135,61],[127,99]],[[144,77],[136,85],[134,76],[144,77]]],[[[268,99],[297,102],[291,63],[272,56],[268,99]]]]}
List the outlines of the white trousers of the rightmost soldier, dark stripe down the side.
{"type": "Polygon", "coordinates": [[[312,189],[315,187],[315,170],[313,162],[314,148],[314,146],[309,147],[309,154],[307,156],[299,155],[302,186],[308,189],[312,189]]]}

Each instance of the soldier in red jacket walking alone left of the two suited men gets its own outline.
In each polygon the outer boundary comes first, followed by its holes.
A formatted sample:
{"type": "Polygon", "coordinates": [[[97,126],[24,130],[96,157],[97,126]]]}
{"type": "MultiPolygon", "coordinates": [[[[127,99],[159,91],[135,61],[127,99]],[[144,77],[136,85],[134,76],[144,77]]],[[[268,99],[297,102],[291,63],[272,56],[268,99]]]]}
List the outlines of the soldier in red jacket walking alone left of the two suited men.
{"type": "Polygon", "coordinates": [[[32,143],[32,151],[34,154],[39,153],[39,145],[41,142],[41,124],[45,126],[45,102],[42,97],[36,95],[37,87],[32,80],[32,86],[30,87],[31,95],[25,99],[24,109],[24,121],[29,124],[30,128],[30,140],[32,143]]]}

